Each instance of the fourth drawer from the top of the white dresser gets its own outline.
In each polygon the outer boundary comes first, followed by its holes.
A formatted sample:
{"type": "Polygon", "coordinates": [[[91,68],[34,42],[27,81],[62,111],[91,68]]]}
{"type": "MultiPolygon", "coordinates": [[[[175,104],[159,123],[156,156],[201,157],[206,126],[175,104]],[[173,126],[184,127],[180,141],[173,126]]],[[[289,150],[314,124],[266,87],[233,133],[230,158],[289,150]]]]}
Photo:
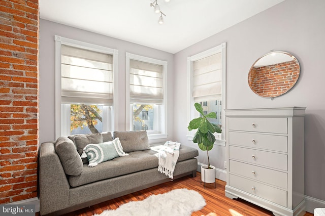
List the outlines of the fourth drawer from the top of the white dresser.
{"type": "Polygon", "coordinates": [[[234,160],[229,161],[229,171],[250,178],[252,180],[261,181],[280,188],[287,189],[286,172],[276,171],[273,169],[255,166],[234,160]]]}

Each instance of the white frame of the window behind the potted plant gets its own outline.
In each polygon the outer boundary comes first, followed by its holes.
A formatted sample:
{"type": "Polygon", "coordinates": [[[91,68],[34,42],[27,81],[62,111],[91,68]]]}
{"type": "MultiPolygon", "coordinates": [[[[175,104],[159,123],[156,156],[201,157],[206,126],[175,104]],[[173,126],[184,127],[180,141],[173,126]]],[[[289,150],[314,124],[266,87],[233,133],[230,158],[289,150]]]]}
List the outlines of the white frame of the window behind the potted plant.
{"type": "MultiPolygon", "coordinates": [[[[221,52],[221,122],[222,122],[222,133],[221,138],[216,137],[215,145],[225,146],[225,114],[226,109],[226,43],[223,42],[221,45],[211,48],[209,50],[203,51],[196,55],[187,58],[187,123],[191,119],[199,117],[199,113],[194,108],[194,99],[192,97],[193,91],[193,62],[209,57],[211,55],[221,52]]],[[[192,141],[194,137],[194,131],[187,131],[187,140],[192,141]]]]}

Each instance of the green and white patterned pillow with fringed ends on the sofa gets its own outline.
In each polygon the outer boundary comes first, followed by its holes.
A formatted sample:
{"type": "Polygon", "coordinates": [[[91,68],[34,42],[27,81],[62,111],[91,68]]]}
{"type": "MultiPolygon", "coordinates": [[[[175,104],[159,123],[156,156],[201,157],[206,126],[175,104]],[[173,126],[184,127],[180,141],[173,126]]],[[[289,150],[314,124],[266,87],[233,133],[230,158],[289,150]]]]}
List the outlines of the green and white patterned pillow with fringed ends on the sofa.
{"type": "Polygon", "coordinates": [[[83,148],[82,158],[87,157],[88,166],[96,166],[101,162],[112,160],[115,157],[126,156],[119,138],[110,142],[99,144],[88,144],[83,148]]]}

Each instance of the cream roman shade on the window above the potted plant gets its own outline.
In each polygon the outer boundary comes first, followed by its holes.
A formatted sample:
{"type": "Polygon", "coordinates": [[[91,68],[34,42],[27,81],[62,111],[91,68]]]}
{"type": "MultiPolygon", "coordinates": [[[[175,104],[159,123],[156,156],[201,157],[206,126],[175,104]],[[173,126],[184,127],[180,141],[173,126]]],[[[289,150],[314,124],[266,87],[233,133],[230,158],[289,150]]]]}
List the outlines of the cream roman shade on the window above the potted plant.
{"type": "Polygon", "coordinates": [[[194,102],[221,99],[221,53],[193,62],[194,102]]]}

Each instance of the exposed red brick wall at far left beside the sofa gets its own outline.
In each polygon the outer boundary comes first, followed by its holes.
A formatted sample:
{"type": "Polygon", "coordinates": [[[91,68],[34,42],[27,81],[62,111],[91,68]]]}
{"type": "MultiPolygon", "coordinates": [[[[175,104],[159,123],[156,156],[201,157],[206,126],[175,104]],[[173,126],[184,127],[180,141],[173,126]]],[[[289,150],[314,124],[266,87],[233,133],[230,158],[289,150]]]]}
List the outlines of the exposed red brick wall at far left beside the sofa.
{"type": "Polygon", "coordinates": [[[0,1],[0,204],[37,197],[39,3],[0,1]]]}

